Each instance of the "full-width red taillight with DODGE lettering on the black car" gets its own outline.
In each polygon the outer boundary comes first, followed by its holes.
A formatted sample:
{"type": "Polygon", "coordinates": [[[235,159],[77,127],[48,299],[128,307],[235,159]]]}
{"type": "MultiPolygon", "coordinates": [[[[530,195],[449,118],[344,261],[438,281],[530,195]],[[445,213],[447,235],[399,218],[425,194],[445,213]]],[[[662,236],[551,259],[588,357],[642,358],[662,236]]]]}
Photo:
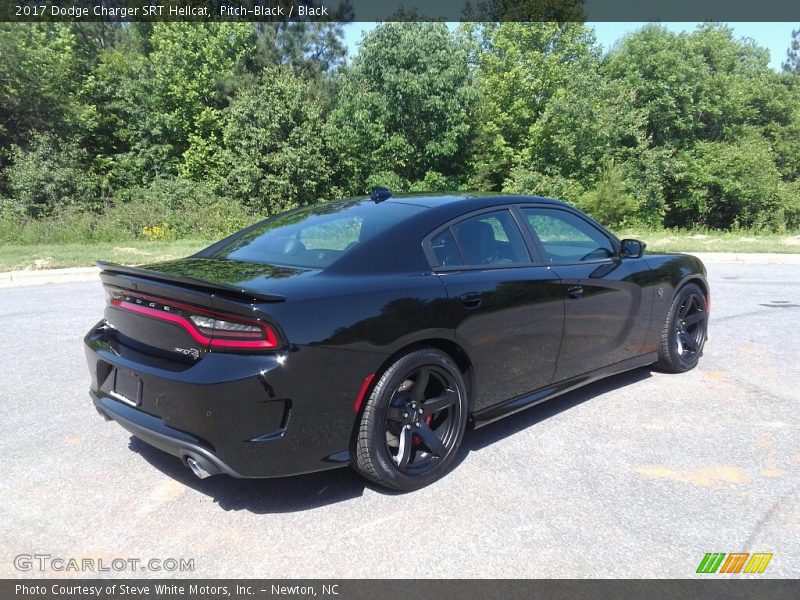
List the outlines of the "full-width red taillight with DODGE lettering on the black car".
{"type": "Polygon", "coordinates": [[[269,350],[278,347],[272,327],[238,315],[214,313],[153,296],[112,290],[112,306],[182,327],[197,343],[211,348],[269,350]]]}

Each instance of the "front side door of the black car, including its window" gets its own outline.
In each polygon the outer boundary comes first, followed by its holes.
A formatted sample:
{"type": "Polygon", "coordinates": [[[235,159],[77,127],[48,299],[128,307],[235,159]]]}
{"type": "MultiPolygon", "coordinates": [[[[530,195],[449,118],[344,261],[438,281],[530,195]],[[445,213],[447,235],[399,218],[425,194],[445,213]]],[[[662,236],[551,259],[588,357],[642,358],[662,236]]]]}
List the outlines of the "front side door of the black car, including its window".
{"type": "Polygon", "coordinates": [[[620,259],[616,240],[566,207],[520,212],[564,299],[555,381],[643,354],[652,308],[643,292],[650,274],[645,261],[620,259]]]}

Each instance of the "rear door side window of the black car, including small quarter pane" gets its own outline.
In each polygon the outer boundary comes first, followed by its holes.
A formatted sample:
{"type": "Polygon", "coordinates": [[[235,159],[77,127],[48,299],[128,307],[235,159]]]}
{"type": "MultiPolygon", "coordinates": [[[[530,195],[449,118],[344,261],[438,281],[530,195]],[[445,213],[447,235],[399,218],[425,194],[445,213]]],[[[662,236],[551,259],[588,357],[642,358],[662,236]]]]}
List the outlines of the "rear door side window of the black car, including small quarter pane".
{"type": "Polygon", "coordinates": [[[437,235],[431,243],[441,266],[512,265],[530,262],[522,233],[507,210],[481,213],[465,219],[437,235]],[[441,262],[445,254],[444,248],[449,247],[449,240],[452,239],[460,250],[460,262],[445,264],[441,262]],[[439,251],[436,250],[437,244],[441,248],[439,251]]]}

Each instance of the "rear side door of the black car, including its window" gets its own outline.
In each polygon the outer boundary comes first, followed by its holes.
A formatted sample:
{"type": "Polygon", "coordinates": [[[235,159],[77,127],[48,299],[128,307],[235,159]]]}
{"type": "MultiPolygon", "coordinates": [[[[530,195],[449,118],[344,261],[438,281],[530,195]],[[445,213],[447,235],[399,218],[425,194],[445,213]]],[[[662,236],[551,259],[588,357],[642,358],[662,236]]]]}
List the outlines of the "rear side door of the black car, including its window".
{"type": "Polygon", "coordinates": [[[556,275],[532,261],[518,218],[507,207],[484,210],[427,241],[456,338],[472,360],[474,410],[553,381],[564,302],[556,275]]]}

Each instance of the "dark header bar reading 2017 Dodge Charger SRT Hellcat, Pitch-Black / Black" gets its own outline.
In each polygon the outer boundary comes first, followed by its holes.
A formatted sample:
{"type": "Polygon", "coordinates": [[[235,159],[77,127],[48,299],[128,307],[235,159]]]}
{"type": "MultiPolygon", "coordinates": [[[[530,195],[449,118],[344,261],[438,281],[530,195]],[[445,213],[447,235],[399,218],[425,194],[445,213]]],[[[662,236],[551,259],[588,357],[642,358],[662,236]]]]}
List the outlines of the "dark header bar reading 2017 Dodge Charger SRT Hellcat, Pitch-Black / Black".
{"type": "Polygon", "coordinates": [[[0,21],[784,21],[798,0],[2,0],[0,21]]]}

